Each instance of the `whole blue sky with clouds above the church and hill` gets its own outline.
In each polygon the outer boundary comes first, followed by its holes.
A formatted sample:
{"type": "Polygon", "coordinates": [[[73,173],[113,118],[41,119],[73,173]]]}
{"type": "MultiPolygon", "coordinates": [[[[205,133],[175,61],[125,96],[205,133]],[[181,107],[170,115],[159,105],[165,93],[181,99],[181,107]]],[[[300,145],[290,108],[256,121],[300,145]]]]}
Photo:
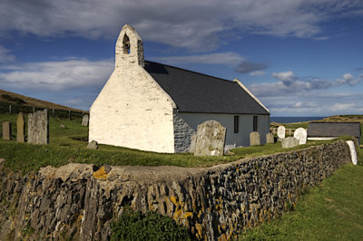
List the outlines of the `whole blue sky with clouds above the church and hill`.
{"type": "Polygon", "coordinates": [[[272,116],[363,113],[361,0],[0,0],[0,89],[88,110],[123,24],[145,59],[239,79],[272,116]]]}

